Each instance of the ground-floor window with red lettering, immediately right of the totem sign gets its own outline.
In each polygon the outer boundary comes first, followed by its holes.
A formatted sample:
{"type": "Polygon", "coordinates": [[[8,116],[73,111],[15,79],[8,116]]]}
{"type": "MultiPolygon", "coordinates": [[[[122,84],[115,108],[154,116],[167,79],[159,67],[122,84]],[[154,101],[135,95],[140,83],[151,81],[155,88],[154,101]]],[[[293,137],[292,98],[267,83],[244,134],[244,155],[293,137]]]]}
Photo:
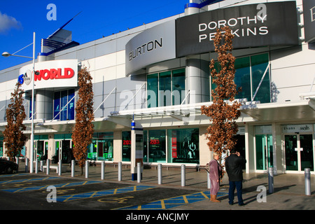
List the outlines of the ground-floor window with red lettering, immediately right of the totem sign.
{"type": "Polygon", "coordinates": [[[166,162],[165,130],[148,131],[148,162],[166,162]]]}

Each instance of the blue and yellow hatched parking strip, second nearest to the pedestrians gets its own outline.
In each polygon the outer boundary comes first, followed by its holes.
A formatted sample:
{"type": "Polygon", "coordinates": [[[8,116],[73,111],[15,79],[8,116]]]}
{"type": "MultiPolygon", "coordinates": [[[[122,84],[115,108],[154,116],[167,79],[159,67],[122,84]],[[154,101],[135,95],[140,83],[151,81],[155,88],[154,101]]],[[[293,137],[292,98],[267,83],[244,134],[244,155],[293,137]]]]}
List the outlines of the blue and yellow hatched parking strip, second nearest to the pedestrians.
{"type": "Polygon", "coordinates": [[[59,196],[57,197],[57,202],[69,202],[73,200],[82,200],[92,197],[102,197],[106,195],[117,195],[122,193],[130,193],[135,192],[139,190],[148,190],[151,188],[155,188],[153,186],[130,186],[126,188],[115,188],[110,190],[99,190],[99,191],[93,191],[89,193],[80,193],[76,195],[65,195],[65,196],[59,196]]]}

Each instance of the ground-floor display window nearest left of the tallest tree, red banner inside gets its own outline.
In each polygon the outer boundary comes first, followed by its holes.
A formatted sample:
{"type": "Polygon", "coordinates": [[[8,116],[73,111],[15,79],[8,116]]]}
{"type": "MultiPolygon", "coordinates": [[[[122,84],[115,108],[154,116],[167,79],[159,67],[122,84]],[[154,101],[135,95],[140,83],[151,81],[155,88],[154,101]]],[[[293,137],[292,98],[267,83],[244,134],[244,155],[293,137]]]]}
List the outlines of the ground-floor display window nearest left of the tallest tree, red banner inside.
{"type": "Polygon", "coordinates": [[[199,163],[199,129],[167,130],[167,162],[199,163]]]}

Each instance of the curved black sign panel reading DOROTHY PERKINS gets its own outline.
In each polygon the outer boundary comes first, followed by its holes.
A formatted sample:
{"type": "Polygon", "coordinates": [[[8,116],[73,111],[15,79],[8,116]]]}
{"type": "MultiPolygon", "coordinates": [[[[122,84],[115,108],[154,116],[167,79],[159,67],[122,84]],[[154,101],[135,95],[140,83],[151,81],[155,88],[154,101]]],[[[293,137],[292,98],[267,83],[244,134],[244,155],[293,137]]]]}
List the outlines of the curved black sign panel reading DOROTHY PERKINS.
{"type": "Polygon", "coordinates": [[[214,51],[216,29],[229,26],[233,47],[297,45],[295,1],[221,8],[176,20],[176,57],[214,51]]]}

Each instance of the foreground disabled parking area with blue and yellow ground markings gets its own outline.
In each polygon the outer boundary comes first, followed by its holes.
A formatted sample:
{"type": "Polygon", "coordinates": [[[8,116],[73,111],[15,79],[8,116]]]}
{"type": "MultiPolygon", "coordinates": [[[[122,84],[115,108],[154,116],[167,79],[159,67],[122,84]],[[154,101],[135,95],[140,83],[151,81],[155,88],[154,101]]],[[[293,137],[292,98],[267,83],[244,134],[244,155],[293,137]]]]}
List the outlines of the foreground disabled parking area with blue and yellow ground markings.
{"type": "Polygon", "coordinates": [[[209,190],[53,175],[0,175],[0,209],[164,210],[210,197],[209,190]]]}

